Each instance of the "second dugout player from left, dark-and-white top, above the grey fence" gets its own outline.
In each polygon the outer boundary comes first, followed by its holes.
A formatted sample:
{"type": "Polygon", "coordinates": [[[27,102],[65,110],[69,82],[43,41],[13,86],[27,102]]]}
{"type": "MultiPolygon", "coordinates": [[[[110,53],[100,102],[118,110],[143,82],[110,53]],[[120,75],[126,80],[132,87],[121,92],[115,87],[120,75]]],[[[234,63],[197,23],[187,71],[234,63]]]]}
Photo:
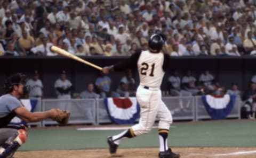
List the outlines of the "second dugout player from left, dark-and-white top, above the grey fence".
{"type": "Polygon", "coordinates": [[[54,89],[56,91],[58,99],[70,99],[71,98],[72,84],[66,78],[66,71],[62,71],[60,78],[54,83],[54,89]]]}

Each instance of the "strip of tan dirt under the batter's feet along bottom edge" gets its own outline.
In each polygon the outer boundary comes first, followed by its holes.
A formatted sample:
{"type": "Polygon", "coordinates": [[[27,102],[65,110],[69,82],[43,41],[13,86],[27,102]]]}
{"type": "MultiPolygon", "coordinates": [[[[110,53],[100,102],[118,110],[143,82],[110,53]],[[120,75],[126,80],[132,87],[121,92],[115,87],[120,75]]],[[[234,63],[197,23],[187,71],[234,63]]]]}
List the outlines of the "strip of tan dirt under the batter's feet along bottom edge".
{"type": "MultiPolygon", "coordinates": [[[[205,157],[256,157],[256,148],[230,148],[230,147],[189,147],[189,148],[172,148],[173,152],[179,153],[181,157],[205,158],[205,157]]],[[[117,156],[124,158],[156,158],[158,157],[158,148],[130,148],[119,149],[117,156]]],[[[59,151],[31,151],[17,152],[15,158],[104,158],[110,156],[108,150],[59,150],[59,151]]]]}

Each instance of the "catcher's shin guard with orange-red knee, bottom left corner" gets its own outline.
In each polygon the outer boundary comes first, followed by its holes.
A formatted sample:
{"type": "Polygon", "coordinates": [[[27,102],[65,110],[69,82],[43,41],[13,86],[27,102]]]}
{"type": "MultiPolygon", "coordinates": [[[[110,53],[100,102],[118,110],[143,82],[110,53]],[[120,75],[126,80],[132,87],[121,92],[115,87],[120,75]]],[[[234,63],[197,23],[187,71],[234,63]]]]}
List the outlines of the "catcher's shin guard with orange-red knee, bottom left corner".
{"type": "Polygon", "coordinates": [[[12,142],[7,141],[0,148],[0,158],[12,156],[17,149],[26,142],[27,132],[24,129],[18,130],[18,136],[12,142]]]}

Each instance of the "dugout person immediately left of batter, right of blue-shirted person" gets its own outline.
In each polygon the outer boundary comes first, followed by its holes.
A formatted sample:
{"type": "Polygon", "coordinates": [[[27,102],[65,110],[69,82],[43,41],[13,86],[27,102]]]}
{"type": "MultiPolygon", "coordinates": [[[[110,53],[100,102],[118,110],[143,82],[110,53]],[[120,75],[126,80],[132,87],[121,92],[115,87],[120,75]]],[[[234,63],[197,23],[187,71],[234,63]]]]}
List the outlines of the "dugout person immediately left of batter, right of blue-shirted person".
{"type": "Polygon", "coordinates": [[[116,90],[120,96],[135,96],[135,80],[132,77],[132,70],[128,69],[125,76],[121,78],[120,85],[116,90]]]}

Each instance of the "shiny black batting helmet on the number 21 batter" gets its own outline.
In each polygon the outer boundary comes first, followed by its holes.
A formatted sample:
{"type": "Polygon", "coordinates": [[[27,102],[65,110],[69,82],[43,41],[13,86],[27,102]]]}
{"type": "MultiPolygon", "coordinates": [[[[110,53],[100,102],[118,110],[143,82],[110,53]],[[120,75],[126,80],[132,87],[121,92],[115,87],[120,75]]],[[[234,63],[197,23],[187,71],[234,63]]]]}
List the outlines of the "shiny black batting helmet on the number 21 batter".
{"type": "Polygon", "coordinates": [[[148,47],[151,52],[162,50],[166,38],[164,34],[153,34],[148,40],[148,47]]]}

